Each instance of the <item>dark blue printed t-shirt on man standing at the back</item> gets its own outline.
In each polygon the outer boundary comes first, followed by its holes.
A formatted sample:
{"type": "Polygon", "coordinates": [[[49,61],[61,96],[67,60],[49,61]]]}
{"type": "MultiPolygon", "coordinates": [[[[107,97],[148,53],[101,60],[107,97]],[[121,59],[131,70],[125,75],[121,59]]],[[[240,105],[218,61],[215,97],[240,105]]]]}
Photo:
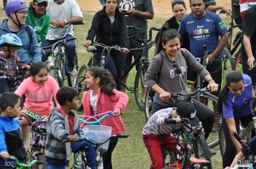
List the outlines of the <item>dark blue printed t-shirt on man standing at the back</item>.
{"type": "MultiPolygon", "coordinates": [[[[204,44],[209,54],[214,52],[219,44],[219,36],[227,33],[227,27],[217,14],[206,11],[206,15],[201,19],[196,19],[192,13],[185,16],[181,20],[179,32],[181,36],[188,32],[191,54],[194,57],[204,57],[204,44]]],[[[222,57],[220,52],[216,59],[222,57]]]]}

